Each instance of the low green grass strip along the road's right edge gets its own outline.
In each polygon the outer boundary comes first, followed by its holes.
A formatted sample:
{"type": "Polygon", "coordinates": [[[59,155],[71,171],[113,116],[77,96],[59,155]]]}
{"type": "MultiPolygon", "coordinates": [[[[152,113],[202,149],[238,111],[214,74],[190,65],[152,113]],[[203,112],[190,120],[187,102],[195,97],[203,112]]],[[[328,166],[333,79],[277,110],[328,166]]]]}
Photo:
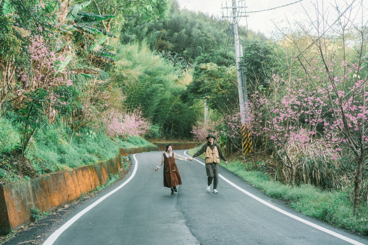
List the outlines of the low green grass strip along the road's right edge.
{"type": "MultiPolygon", "coordinates": [[[[189,154],[193,155],[198,149],[191,149],[189,154]]],[[[203,158],[203,154],[200,157],[203,158]]],[[[367,202],[361,202],[358,213],[354,215],[350,190],[327,191],[309,184],[291,188],[290,185],[271,180],[263,170],[252,170],[251,163],[243,163],[238,159],[230,159],[228,163],[226,166],[221,161],[220,166],[248,181],[269,197],[286,201],[298,212],[339,228],[368,235],[367,202]]]]}

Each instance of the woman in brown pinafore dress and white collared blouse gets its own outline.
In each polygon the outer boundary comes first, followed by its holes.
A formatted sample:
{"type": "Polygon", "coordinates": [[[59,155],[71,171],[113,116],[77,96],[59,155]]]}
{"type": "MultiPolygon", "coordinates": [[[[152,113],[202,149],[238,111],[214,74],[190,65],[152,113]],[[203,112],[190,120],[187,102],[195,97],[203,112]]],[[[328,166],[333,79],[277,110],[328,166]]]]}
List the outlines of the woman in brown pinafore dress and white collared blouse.
{"type": "Polygon", "coordinates": [[[166,145],[166,151],[162,154],[159,165],[157,165],[155,172],[163,166],[163,186],[171,189],[171,195],[174,194],[174,191],[177,192],[177,185],[181,185],[181,178],[178,171],[178,167],[176,166],[175,159],[185,160],[187,161],[187,157],[178,155],[173,152],[173,145],[166,145]]]}

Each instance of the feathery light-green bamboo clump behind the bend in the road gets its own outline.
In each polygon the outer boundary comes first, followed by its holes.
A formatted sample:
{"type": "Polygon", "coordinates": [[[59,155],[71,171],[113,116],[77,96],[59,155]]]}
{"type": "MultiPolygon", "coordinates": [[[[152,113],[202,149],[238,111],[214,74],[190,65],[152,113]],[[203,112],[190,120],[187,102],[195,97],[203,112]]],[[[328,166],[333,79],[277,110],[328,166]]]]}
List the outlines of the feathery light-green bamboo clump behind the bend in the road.
{"type": "Polygon", "coordinates": [[[188,136],[194,112],[180,100],[185,87],[174,68],[146,46],[125,45],[118,51],[114,81],[126,95],[128,111],[141,108],[160,135],[188,136]]]}

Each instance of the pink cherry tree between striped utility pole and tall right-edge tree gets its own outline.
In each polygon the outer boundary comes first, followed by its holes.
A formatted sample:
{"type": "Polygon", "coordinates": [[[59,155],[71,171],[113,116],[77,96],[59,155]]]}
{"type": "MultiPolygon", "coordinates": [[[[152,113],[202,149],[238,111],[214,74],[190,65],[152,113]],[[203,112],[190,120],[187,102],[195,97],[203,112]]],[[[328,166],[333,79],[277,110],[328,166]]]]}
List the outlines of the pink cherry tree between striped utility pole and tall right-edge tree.
{"type": "Polygon", "coordinates": [[[298,80],[285,81],[274,75],[272,84],[272,95],[255,92],[255,104],[263,107],[266,115],[263,122],[253,119],[250,125],[255,135],[261,134],[258,129],[270,138],[276,155],[291,171],[290,184],[294,187],[298,167],[310,158],[335,156],[336,152],[318,135],[323,100],[303,89],[298,80]]]}

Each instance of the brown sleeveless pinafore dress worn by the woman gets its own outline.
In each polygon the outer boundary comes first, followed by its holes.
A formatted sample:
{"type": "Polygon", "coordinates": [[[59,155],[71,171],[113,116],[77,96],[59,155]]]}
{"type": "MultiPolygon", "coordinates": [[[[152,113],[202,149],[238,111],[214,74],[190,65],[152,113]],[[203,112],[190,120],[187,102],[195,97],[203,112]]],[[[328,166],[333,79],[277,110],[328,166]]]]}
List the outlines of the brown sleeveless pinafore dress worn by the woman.
{"type": "Polygon", "coordinates": [[[181,178],[175,163],[174,152],[171,157],[169,156],[169,158],[166,157],[164,152],[163,161],[163,186],[171,188],[181,185],[181,178]]]}

